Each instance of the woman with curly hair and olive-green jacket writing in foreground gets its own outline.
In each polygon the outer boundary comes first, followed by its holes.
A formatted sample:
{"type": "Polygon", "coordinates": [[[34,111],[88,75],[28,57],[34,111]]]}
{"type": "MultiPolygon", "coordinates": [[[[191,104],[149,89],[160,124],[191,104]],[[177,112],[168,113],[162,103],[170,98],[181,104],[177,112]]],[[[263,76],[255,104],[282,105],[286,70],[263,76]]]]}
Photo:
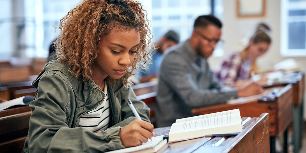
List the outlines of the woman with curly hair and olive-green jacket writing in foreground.
{"type": "Polygon", "coordinates": [[[140,2],[84,0],[63,17],[48,62],[32,86],[24,153],[98,153],[141,145],[154,136],[148,106],[127,78],[147,58],[149,21],[140,2]],[[130,99],[142,120],[136,120],[130,99]]]}

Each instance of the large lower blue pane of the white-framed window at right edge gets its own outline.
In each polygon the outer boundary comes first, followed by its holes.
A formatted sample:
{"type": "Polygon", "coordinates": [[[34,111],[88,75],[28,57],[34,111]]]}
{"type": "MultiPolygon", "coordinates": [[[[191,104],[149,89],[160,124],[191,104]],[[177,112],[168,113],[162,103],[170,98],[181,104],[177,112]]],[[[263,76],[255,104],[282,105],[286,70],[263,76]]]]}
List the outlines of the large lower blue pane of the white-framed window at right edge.
{"type": "Polygon", "coordinates": [[[289,23],[289,49],[305,49],[306,22],[289,23]]]}

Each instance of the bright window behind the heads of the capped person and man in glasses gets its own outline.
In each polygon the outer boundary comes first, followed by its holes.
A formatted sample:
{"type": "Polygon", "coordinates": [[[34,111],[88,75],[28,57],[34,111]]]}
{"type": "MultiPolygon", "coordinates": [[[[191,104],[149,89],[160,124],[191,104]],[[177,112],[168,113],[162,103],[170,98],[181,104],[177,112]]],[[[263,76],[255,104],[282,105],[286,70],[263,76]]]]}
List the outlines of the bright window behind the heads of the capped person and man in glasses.
{"type": "MultiPolygon", "coordinates": [[[[211,13],[211,0],[151,0],[151,3],[152,11],[149,16],[152,16],[151,28],[154,41],[158,41],[172,29],[179,33],[183,42],[191,36],[195,19],[200,15],[211,13]]],[[[222,0],[214,0],[214,5],[215,16],[222,20],[222,0]]],[[[223,48],[219,45],[213,56],[223,54],[223,48]]]]}

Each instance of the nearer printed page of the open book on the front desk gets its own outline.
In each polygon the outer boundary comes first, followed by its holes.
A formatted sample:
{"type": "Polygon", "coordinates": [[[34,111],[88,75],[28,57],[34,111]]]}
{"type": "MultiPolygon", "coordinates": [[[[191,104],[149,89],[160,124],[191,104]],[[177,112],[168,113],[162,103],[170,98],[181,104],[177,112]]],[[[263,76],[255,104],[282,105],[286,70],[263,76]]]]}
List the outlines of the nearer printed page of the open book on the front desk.
{"type": "MultiPolygon", "coordinates": [[[[216,127],[225,127],[228,125],[240,125],[241,130],[241,117],[240,113],[234,113],[234,114],[226,114],[222,116],[214,116],[210,118],[201,118],[198,120],[190,120],[180,123],[174,123],[171,126],[169,136],[173,133],[181,133],[181,132],[188,132],[188,131],[196,131],[201,129],[213,129],[216,127]]],[[[230,133],[230,132],[229,132],[230,133]]],[[[222,134],[216,133],[214,134],[222,134]]]]}

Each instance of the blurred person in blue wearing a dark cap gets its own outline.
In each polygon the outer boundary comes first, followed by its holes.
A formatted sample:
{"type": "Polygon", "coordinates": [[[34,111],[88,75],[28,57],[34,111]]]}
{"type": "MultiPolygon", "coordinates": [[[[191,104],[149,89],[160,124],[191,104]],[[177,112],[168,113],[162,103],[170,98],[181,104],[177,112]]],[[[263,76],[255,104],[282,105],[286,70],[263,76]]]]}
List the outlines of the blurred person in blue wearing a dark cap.
{"type": "Polygon", "coordinates": [[[140,83],[156,80],[157,72],[162,59],[162,54],[171,46],[180,42],[180,36],[177,32],[170,30],[158,42],[154,44],[155,52],[151,52],[152,60],[148,65],[148,69],[141,69],[138,74],[140,83]]]}

